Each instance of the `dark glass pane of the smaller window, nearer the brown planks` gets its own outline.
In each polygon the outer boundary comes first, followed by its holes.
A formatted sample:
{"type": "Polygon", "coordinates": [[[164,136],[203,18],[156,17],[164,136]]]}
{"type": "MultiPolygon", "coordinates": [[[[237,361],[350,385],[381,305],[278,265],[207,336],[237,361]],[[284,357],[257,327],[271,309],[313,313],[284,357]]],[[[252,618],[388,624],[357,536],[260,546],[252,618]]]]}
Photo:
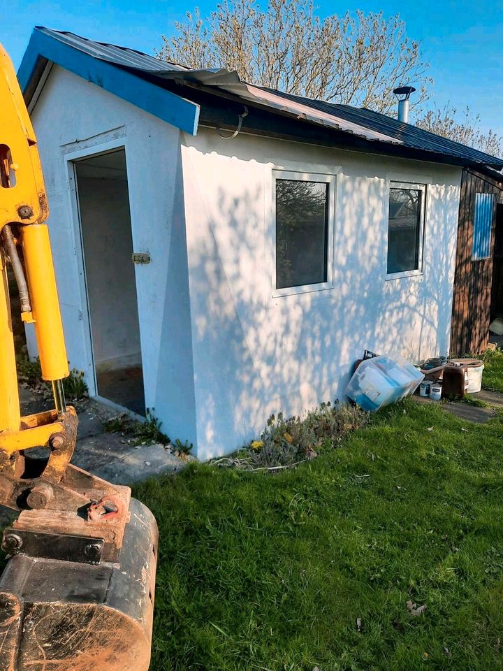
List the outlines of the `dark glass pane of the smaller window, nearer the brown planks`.
{"type": "Polygon", "coordinates": [[[390,189],[388,273],[419,268],[421,196],[419,189],[390,189]]]}

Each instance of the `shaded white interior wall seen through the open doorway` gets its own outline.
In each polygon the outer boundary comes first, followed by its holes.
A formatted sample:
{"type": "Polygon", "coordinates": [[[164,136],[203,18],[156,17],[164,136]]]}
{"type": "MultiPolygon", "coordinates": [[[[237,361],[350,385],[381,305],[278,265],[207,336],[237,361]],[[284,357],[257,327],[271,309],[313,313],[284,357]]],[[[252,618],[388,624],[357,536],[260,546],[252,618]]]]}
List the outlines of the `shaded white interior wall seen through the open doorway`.
{"type": "Polygon", "coordinates": [[[141,346],[128,185],[82,177],[79,167],[77,182],[94,363],[97,370],[131,366],[141,362],[141,346]]]}

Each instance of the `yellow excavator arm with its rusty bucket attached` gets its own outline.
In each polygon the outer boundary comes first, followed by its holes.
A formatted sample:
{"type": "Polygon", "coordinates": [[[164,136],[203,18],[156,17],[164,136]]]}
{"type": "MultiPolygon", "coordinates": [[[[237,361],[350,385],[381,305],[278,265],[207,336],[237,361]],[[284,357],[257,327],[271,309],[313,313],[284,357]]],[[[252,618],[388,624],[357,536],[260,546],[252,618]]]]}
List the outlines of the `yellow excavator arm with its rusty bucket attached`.
{"type": "Polygon", "coordinates": [[[0,671],[146,671],[157,528],[150,510],[70,461],[78,418],[64,399],[68,361],[37,141],[0,45],[0,671]],[[8,266],[34,324],[54,410],[22,417],[8,266]],[[45,459],[30,451],[46,449],[45,459]]]}

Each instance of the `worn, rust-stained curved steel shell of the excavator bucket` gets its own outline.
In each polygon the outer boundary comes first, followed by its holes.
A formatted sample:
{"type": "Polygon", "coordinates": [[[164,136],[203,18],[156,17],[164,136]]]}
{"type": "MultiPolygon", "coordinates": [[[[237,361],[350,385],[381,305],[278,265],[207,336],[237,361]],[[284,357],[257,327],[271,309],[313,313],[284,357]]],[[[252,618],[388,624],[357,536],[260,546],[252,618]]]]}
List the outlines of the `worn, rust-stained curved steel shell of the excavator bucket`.
{"type": "Polygon", "coordinates": [[[147,671],[157,525],[131,499],[118,563],[17,554],[0,577],[0,671],[147,671]]]}

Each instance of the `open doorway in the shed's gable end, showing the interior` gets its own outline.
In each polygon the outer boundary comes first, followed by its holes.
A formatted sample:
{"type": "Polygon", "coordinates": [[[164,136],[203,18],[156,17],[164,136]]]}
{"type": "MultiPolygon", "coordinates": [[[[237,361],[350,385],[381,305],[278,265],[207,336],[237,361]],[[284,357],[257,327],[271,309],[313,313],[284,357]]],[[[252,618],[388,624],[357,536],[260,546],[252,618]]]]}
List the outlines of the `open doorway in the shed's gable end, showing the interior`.
{"type": "Polygon", "coordinates": [[[145,415],[124,149],[75,161],[98,396],[145,415]]]}

